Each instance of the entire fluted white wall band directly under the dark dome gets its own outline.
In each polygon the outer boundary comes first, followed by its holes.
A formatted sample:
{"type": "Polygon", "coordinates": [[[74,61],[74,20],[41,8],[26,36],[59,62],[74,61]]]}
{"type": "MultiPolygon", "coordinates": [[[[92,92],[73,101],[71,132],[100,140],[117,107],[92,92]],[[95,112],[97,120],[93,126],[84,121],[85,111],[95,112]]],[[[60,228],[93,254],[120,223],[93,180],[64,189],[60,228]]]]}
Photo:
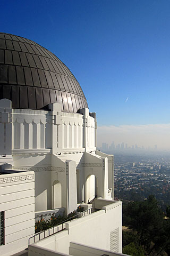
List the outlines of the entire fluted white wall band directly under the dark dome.
{"type": "Polygon", "coordinates": [[[94,151],[95,122],[89,114],[12,109],[12,152],[70,153],[85,147],[94,151]]]}

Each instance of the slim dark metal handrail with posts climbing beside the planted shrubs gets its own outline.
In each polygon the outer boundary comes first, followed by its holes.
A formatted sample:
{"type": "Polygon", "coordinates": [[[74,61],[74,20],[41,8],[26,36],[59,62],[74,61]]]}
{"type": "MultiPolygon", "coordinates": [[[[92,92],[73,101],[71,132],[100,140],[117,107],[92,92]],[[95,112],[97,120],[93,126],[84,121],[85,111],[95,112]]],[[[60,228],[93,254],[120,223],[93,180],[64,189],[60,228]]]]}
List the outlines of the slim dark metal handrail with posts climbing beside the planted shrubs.
{"type": "MultiPolygon", "coordinates": [[[[90,213],[92,212],[92,207],[91,207],[90,209],[87,209],[87,210],[83,211],[83,212],[79,212],[78,214],[74,215],[73,217],[71,217],[71,218],[69,218],[69,219],[66,219],[66,220],[64,220],[64,221],[62,221],[62,222],[60,222],[60,223],[58,223],[56,226],[53,226],[53,227],[51,227],[51,228],[42,230],[42,231],[40,231],[39,233],[37,233],[37,234],[31,236],[31,237],[29,238],[29,240],[28,240],[28,244],[30,245],[30,239],[31,239],[31,238],[33,238],[33,243],[35,243],[35,237],[37,237],[37,236],[39,236],[38,241],[40,241],[40,240],[42,240],[42,239],[44,239],[44,238],[46,238],[46,237],[52,236],[52,235],[54,235],[54,234],[56,234],[56,233],[58,233],[58,232],[60,232],[60,231],[63,231],[63,230],[65,229],[65,227],[63,228],[63,224],[64,224],[65,222],[71,221],[71,220],[76,219],[76,218],[78,219],[80,215],[81,215],[82,217],[85,217],[86,212],[89,212],[89,214],[90,214],[90,213]],[[84,213],[84,215],[83,215],[83,213],[84,213]],[[60,226],[60,225],[62,225],[62,229],[61,229],[61,230],[59,230],[59,227],[58,227],[58,226],[60,226]],[[55,232],[55,228],[57,228],[57,231],[56,231],[56,232],[55,232]],[[50,234],[50,230],[53,230],[53,233],[52,233],[52,234],[50,234]],[[48,235],[45,236],[45,233],[48,233],[48,235]],[[43,238],[41,238],[41,234],[44,234],[44,237],[43,237],[43,238]]],[[[37,242],[38,242],[38,241],[37,241],[37,242]]]]}

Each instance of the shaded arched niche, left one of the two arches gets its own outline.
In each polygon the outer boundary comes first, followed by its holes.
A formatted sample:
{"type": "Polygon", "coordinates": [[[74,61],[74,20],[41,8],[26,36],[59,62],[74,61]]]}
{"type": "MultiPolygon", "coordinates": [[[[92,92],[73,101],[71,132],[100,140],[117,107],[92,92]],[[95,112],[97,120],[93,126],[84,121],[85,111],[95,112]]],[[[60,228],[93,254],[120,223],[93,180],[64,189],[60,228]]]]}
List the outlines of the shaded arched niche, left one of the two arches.
{"type": "Polygon", "coordinates": [[[62,207],[62,185],[58,180],[53,182],[53,209],[62,207]]]}

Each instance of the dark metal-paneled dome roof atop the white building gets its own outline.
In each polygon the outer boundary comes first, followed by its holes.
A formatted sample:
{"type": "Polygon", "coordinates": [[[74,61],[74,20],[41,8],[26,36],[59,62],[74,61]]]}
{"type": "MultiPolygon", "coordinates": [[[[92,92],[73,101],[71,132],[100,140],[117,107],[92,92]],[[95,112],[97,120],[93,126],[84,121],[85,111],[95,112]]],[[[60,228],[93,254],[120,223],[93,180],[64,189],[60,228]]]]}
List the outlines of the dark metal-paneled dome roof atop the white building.
{"type": "Polygon", "coordinates": [[[65,112],[87,107],[83,91],[69,68],[52,52],[20,36],[0,33],[0,99],[12,108],[48,109],[61,103],[65,112]]]}

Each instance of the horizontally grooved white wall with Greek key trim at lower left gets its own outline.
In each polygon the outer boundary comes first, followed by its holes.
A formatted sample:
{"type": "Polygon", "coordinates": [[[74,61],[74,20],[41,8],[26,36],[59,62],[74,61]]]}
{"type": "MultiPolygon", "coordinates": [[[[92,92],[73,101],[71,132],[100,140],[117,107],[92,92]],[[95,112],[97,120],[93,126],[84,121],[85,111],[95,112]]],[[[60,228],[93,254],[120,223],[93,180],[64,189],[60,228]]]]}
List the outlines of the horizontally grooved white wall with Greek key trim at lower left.
{"type": "Polygon", "coordinates": [[[28,247],[35,232],[34,173],[0,175],[0,211],[4,211],[5,245],[0,255],[12,255],[28,247]]]}

